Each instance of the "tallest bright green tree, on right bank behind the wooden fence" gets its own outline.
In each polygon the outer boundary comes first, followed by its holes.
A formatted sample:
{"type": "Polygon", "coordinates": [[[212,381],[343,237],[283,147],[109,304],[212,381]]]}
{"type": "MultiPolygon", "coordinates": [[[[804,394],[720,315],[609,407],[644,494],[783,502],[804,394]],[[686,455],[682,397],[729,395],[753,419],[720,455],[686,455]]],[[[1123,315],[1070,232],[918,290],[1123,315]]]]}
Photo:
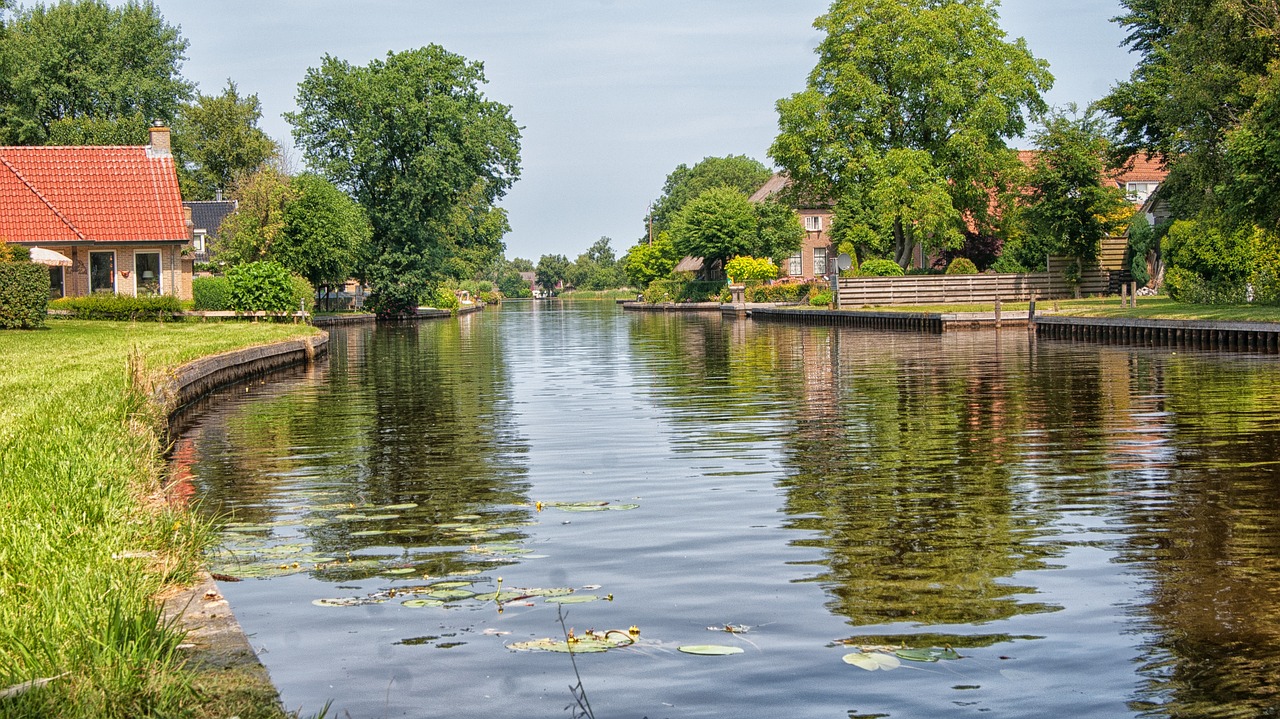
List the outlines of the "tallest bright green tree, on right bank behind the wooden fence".
{"type": "Polygon", "coordinates": [[[1005,142],[1046,110],[1043,60],[1000,29],[993,0],[837,0],[806,90],[778,102],[769,155],[801,196],[836,202],[845,239],[957,247],[997,212],[1016,156],[1005,142]]]}

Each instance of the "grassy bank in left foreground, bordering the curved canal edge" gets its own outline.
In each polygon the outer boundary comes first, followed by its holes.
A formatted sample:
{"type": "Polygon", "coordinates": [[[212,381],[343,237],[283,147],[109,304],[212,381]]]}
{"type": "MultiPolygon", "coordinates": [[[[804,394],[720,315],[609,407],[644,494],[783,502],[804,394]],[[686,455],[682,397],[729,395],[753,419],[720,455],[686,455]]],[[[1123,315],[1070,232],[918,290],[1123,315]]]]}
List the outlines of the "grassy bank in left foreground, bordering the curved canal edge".
{"type": "Polygon", "coordinates": [[[0,692],[52,678],[0,699],[0,716],[273,714],[237,691],[212,696],[183,670],[180,635],[155,608],[163,587],[195,576],[209,535],[163,500],[157,418],[131,376],[310,331],[88,321],[0,331],[0,692]]]}

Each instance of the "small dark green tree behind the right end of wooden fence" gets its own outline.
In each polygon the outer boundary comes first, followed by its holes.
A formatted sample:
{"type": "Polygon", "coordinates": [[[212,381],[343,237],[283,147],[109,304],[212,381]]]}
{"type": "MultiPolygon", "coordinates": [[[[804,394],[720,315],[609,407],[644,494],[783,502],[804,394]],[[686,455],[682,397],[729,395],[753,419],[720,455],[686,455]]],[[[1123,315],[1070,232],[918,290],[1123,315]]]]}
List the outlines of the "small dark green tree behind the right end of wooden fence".
{"type": "Polygon", "coordinates": [[[1124,193],[1102,183],[1108,147],[1103,130],[1101,119],[1087,111],[1055,113],[1036,133],[1041,152],[1028,182],[1028,226],[1051,253],[1074,257],[1076,267],[1093,265],[1102,238],[1120,232],[1133,215],[1124,193]]]}

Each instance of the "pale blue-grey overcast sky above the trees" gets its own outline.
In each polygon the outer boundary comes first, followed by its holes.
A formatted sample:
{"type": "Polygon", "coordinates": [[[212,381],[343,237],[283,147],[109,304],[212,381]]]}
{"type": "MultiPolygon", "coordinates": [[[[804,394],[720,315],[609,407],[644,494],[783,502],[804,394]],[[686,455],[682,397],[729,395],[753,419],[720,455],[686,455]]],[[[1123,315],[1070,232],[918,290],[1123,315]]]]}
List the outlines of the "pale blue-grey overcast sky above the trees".
{"type": "MultiPolygon", "coordinates": [[[[325,54],[365,65],[442,45],[483,61],[486,95],[524,128],[522,175],[503,206],[507,257],[575,258],[602,235],[621,256],[676,165],[765,155],[774,102],[817,60],[828,0],[156,0],[191,42],[183,74],[205,93],[234,79],[280,116],[325,54]]],[[[1001,24],[1056,78],[1048,101],[1080,106],[1128,77],[1134,58],[1110,19],[1117,0],[1005,0],[1001,24]]]]}

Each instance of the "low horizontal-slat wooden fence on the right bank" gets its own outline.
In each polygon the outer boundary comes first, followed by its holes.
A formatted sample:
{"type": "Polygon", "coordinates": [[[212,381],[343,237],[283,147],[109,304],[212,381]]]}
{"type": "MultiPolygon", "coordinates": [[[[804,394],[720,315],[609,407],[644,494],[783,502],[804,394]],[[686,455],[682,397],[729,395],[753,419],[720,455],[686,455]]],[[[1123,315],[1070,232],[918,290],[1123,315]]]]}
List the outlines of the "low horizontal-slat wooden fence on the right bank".
{"type": "MultiPolygon", "coordinates": [[[[840,280],[840,306],[991,304],[1039,298],[1073,297],[1066,281],[1070,260],[1051,257],[1047,273],[986,275],[910,275],[905,278],[849,278],[840,280]]],[[[1080,294],[1107,292],[1110,273],[1092,267],[1080,278],[1080,294]]]]}

